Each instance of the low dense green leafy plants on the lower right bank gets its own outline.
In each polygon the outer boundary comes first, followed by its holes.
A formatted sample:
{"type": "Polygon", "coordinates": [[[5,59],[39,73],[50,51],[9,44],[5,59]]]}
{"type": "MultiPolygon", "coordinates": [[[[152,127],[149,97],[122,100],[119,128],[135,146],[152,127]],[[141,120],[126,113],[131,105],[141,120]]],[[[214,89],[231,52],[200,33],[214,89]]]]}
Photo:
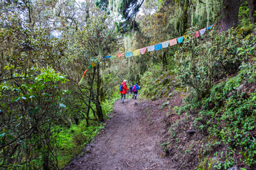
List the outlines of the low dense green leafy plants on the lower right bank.
{"type": "MultiPolygon", "coordinates": [[[[223,155],[225,167],[256,164],[256,66],[242,64],[238,76],[215,84],[202,101],[186,100],[200,108],[195,125],[223,142],[230,150],[223,155]],[[235,160],[233,155],[240,155],[235,160]]],[[[192,107],[188,107],[191,109],[192,107]]]]}

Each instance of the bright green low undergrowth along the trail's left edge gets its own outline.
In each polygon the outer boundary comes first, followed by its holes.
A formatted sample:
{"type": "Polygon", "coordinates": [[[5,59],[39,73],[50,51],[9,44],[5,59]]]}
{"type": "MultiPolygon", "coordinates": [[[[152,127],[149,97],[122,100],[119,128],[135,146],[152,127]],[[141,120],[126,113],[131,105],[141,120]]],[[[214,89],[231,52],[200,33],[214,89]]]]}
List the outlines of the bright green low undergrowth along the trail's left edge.
{"type": "MultiPolygon", "coordinates": [[[[113,103],[117,100],[118,94],[114,94],[110,100],[102,102],[102,112],[105,119],[110,118],[109,113],[113,109],[113,103]]],[[[90,113],[92,114],[92,113],[90,113]]],[[[71,125],[70,128],[55,127],[55,140],[58,145],[58,164],[60,169],[67,164],[71,158],[80,153],[85,145],[92,142],[95,135],[104,129],[105,123],[92,122],[87,126],[86,120],[81,120],[78,125],[71,125]]]]}

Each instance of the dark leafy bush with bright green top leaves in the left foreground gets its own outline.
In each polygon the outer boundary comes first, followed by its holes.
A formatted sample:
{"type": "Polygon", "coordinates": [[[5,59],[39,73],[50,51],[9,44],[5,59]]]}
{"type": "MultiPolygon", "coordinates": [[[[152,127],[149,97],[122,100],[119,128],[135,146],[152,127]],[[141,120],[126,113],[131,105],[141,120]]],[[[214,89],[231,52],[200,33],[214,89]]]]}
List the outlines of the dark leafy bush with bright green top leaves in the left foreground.
{"type": "Polygon", "coordinates": [[[53,127],[61,124],[63,117],[66,79],[49,68],[31,68],[28,73],[16,73],[13,81],[0,84],[0,166],[55,167],[53,127]]]}

